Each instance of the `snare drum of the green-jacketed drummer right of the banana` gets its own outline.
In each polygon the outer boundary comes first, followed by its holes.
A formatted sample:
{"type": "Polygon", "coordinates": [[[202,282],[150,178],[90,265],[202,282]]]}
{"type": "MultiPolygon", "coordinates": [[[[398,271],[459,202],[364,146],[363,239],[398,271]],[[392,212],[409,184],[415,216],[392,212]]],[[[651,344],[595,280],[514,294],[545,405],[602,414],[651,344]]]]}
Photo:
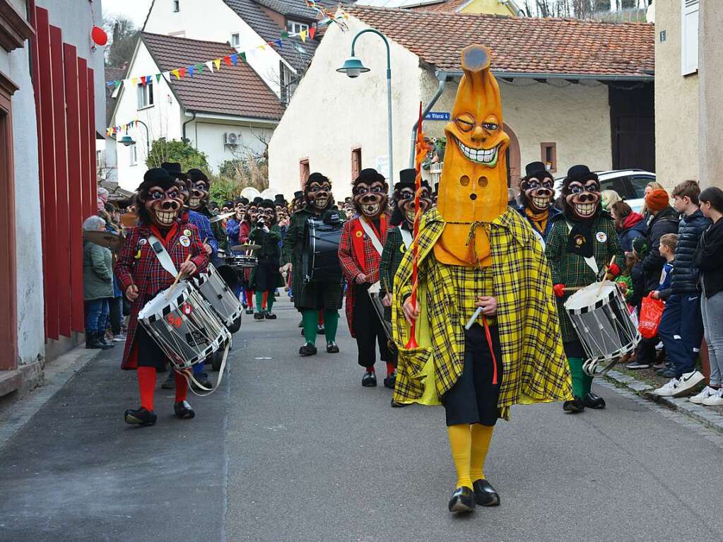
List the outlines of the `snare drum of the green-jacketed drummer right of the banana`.
{"type": "Polygon", "coordinates": [[[573,293],[565,301],[588,359],[583,370],[591,377],[607,373],[625,354],[632,353],[641,335],[615,283],[605,280],[573,293]],[[600,364],[604,364],[602,369],[600,364]]]}

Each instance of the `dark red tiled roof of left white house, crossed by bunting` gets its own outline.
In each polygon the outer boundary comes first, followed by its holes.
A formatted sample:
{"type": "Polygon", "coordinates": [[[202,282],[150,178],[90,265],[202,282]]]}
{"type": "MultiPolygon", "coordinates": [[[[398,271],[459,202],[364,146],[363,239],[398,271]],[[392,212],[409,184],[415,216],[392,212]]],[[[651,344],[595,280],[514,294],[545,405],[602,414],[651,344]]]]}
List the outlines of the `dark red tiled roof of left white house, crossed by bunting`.
{"type": "MultiPolygon", "coordinates": [[[[175,36],[141,33],[141,39],[161,71],[195,65],[236,53],[228,43],[189,40],[175,36]]],[[[239,59],[238,65],[221,64],[218,72],[202,73],[176,80],[168,77],[183,106],[198,113],[247,116],[254,119],[281,119],[283,106],[256,72],[239,59]]]]}

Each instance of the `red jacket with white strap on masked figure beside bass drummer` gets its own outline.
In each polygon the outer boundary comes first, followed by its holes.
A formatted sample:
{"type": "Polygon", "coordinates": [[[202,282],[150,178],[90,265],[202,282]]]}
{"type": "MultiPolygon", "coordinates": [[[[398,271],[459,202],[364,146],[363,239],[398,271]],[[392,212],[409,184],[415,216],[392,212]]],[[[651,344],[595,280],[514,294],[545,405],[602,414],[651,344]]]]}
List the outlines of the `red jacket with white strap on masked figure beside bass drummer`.
{"type": "MultiPolygon", "coordinates": [[[[354,333],[354,283],[356,275],[364,273],[367,275],[367,282],[374,284],[379,280],[379,262],[382,258],[377,249],[374,248],[371,239],[367,233],[359,227],[359,217],[354,220],[348,220],[344,223],[341,230],[341,238],[339,239],[339,262],[341,263],[341,272],[347,280],[346,285],[346,320],[349,324],[349,331],[352,337],[356,337],[354,333]],[[361,235],[359,235],[361,233],[361,235]],[[359,261],[354,249],[354,237],[359,235],[364,240],[364,260],[359,261]]],[[[389,230],[389,215],[382,215],[380,221],[379,240],[384,246],[387,241],[387,231],[389,230]]],[[[373,229],[373,226],[372,226],[373,229]]]]}

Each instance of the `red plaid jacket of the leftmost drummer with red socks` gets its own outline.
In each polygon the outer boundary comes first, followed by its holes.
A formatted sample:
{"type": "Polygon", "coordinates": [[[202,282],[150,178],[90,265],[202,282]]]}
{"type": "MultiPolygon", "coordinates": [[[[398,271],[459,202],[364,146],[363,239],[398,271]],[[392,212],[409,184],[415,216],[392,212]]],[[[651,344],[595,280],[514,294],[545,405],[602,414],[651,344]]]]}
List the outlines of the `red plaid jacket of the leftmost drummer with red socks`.
{"type": "MultiPolygon", "coordinates": [[[[171,255],[176,268],[180,267],[188,254],[191,262],[196,264],[197,273],[204,272],[208,267],[208,254],[203,249],[198,229],[187,220],[179,219],[166,239],[166,250],[171,255]],[[181,243],[181,238],[189,239],[189,246],[181,243]]],[[[155,296],[156,293],[170,286],[175,277],[163,269],[155,252],[148,242],[151,230],[147,225],[129,228],[126,233],[126,244],[116,260],[115,272],[121,290],[125,294],[127,288],[134,284],[140,294],[131,304],[128,322],[126,348],[123,352],[123,369],[137,368],[137,352],[134,348],[135,331],[138,325],[140,309],[155,296]]],[[[161,239],[163,241],[163,239],[161,239]]]]}

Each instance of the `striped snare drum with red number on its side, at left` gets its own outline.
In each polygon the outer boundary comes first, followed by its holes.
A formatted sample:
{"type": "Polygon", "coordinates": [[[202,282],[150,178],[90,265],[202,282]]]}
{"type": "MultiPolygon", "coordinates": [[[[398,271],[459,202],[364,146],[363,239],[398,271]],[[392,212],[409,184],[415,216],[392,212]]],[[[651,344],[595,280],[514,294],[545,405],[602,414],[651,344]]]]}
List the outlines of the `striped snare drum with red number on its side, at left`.
{"type": "Polygon", "coordinates": [[[138,313],[138,322],[179,371],[203,363],[231,341],[223,322],[186,280],[148,301],[138,313]]]}

